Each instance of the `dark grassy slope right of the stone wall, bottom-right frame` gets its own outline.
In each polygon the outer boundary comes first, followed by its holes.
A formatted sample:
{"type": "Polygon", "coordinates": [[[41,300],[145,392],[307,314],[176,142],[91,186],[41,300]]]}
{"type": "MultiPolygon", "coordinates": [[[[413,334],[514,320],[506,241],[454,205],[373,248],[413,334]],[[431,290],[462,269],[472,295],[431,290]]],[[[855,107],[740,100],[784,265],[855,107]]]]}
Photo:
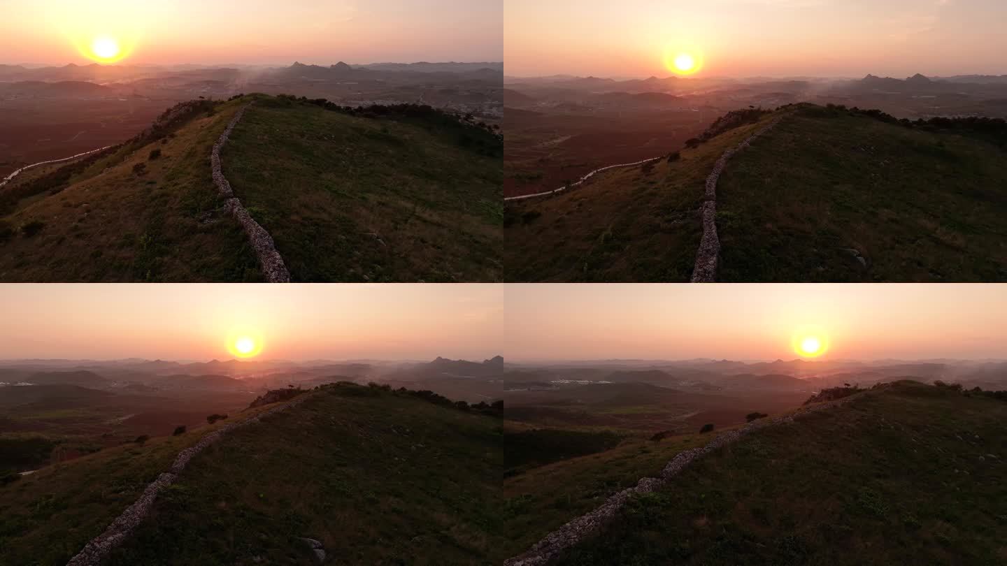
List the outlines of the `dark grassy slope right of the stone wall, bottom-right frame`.
{"type": "Polygon", "coordinates": [[[1007,403],[900,382],[768,427],[561,564],[1002,564],[1007,403]]]}

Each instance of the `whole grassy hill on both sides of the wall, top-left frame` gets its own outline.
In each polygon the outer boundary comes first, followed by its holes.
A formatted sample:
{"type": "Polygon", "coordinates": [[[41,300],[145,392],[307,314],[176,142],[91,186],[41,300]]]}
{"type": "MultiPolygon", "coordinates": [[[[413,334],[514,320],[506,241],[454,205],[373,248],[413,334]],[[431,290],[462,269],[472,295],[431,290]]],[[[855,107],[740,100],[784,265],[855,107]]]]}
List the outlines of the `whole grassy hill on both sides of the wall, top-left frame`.
{"type": "Polygon", "coordinates": [[[260,242],[210,168],[242,109],[223,174],[291,280],[501,277],[502,142],[489,126],[250,95],[180,104],[124,144],[0,189],[0,281],[263,280],[260,242]]]}

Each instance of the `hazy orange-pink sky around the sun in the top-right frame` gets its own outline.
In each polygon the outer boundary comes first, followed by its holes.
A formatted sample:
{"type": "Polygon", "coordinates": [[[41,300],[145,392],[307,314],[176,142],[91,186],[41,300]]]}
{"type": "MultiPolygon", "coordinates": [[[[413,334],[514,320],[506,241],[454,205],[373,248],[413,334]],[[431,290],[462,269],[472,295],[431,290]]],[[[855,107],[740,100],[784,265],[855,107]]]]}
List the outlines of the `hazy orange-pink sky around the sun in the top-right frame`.
{"type": "Polygon", "coordinates": [[[1004,0],[505,0],[508,75],[1007,74],[1004,0]]]}

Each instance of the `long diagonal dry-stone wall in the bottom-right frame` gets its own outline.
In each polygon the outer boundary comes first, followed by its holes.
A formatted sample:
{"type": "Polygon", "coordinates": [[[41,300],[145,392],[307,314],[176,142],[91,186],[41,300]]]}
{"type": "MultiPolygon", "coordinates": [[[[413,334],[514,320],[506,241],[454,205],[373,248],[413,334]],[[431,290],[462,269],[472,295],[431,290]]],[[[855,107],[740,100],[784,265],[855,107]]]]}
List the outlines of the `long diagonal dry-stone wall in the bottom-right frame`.
{"type": "Polygon", "coordinates": [[[609,497],[598,509],[586,515],[582,515],[549,535],[546,535],[546,538],[536,543],[528,552],[522,554],[521,556],[505,560],[503,566],[542,566],[544,564],[548,564],[562,552],[572,548],[574,545],[600,531],[602,527],[615,518],[615,516],[631,498],[643,493],[650,493],[665,486],[696,459],[718,450],[727,444],[736,442],[742,436],[750,434],[761,428],[794,422],[795,419],[801,418],[811,412],[830,409],[851,399],[855,399],[856,397],[859,396],[846,397],[844,399],[829,403],[822,403],[820,405],[806,406],[787,415],[757,420],[748,423],[744,427],[728,430],[717,435],[717,437],[710,441],[710,443],[706,446],[680,452],[677,456],[675,456],[675,458],[669,461],[667,465],[665,465],[665,468],[661,471],[660,477],[643,477],[632,487],[623,489],[609,497]]]}

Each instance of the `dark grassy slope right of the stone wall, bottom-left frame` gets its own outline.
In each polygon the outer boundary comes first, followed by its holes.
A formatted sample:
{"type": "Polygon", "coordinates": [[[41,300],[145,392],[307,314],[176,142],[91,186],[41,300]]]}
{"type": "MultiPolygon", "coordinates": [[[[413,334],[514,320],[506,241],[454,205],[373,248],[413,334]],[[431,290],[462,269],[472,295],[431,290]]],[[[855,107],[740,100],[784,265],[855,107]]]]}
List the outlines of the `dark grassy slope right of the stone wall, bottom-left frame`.
{"type": "Polygon", "coordinates": [[[498,564],[500,420],[337,386],[193,458],[111,564],[498,564]]]}

